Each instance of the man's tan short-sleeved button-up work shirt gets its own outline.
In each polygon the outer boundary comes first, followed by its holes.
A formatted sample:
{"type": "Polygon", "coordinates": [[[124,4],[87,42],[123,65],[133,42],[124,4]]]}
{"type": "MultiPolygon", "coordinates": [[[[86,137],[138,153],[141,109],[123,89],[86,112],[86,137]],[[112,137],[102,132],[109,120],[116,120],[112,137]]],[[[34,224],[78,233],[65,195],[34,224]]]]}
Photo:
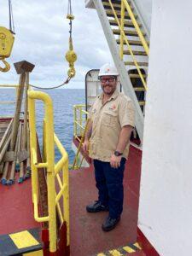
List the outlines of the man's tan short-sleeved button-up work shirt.
{"type": "MultiPolygon", "coordinates": [[[[110,162],[111,156],[119,142],[123,126],[135,126],[135,113],[131,99],[117,90],[102,104],[103,93],[97,96],[90,108],[89,118],[92,121],[89,154],[92,159],[110,162]]],[[[129,145],[123,156],[127,159],[129,145]]]]}

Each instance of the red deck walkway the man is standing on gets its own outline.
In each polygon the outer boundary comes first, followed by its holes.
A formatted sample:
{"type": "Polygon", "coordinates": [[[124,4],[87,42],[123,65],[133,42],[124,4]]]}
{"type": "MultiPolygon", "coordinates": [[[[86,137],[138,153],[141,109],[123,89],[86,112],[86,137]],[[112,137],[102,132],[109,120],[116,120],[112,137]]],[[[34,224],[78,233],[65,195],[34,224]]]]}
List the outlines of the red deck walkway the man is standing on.
{"type": "MultiPolygon", "coordinates": [[[[88,213],[85,207],[97,199],[93,167],[70,172],[71,255],[90,256],[137,241],[137,213],[141,174],[141,151],[131,147],[125,166],[124,212],[118,226],[103,232],[108,212],[88,213]]],[[[145,255],[143,252],[131,255],[145,255]]]]}

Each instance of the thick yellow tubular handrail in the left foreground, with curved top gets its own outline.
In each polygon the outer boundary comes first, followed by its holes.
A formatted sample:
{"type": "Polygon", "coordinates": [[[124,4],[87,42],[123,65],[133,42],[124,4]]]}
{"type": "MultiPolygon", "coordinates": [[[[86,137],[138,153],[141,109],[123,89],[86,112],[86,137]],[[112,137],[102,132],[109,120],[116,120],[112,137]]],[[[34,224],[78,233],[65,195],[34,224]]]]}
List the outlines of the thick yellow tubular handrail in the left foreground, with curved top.
{"type": "Polygon", "coordinates": [[[65,148],[62,147],[59,139],[54,134],[53,122],[53,104],[50,97],[44,92],[28,91],[29,105],[29,125],[30,125],[30,148],[32,159],[32,201],[34,204],[34,218],[38,222],[49,222],[49,252],[56,252],[57,235],[56,235],[56,209],[61,220],[67,224],[67,246],[69,245],[69,195],[68,195],[68,155],[65,148]],[[44,162],[38,163],[37,154],[37,131],[36,131],[36,113],[35,100],[44,102],[44,144],[46,150],[44,152],[44,162]],[[61,152],[61,160],[55,164],[55,148],[54,143],[61,152]],[[48,216],[38,216],[38,168],[46,168],[47,188],[48,188],[48,216]],[[63,181],[59,172],[62,171],[63,181]],[[55,190],[55,177],[60,185],[58,194],[55,190]],[[59,200],[63,196],[64,210],[61,211],[59,200]]]}

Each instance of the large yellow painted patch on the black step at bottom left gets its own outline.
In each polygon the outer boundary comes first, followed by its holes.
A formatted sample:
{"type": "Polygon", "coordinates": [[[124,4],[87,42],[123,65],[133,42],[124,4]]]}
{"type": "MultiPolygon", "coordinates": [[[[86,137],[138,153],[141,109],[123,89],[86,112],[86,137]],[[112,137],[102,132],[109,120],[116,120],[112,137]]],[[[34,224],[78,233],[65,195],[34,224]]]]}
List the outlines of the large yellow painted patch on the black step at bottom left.
{"type": "Polygon", "coordinates": [[[39,244],[39,242],[26,230],[19,233],[9,235],[12,241],[14,241],[15,246],[18,249],[33,247],[39,244]]]}

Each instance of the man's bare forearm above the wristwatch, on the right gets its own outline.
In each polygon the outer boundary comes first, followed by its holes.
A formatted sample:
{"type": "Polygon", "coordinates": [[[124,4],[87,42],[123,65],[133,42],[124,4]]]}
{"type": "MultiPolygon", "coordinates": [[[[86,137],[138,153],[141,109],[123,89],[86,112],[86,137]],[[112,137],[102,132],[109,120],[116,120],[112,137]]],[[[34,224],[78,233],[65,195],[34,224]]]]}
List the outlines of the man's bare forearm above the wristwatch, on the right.
{"type": "Polygon", "coordinates": [[[119,142],[116,148],[116,150],[119,151],[120,153],[124,152],[126,145],[129,143],[132,130],[133,127],[131,125],[125,125],[121,129],[119,134],[119,142]]]}

